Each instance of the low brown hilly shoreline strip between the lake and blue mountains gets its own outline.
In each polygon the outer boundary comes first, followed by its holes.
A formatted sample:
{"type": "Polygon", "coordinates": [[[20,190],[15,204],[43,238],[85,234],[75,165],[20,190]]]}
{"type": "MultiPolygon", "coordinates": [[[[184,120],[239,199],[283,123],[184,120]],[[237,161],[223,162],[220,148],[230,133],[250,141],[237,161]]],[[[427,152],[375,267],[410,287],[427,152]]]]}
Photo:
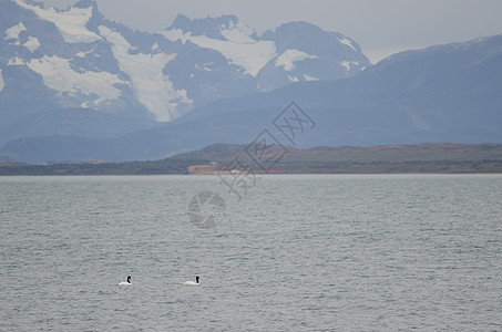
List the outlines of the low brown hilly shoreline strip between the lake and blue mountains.
{"type": "MultiPolygon", "coordinates": [[[[276,147],[258,165],[249,145],[213,144],[155,162],[0,165],[0,175],[143,175],[255,172],[272,174],[502,173],[502,144],[418,144],[372,147],[276,147]],[[240,168],[239,168],[240,167],[240,168]]],[[[259,158],[258,158],[259,162],[259,158]]]]}

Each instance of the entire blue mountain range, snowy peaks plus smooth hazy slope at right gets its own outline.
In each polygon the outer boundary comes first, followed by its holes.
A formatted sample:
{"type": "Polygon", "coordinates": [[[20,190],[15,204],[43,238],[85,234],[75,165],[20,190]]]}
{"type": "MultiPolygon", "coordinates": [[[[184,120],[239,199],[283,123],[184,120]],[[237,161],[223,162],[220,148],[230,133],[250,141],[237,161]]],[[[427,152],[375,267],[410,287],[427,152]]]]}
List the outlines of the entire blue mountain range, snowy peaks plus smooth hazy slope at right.
{"type": "Polygon", "coordinates": [[[18,160],[155,159],[264,128],[280,137],[270,123],[293,100],[317,123],[298,147],[502,139],[502,35],[371,66],[355,41],[305,22],[258,37],[233,15],[178,15],[145,33],[93,1],[0,7],[0,155],[18,160]]]}

